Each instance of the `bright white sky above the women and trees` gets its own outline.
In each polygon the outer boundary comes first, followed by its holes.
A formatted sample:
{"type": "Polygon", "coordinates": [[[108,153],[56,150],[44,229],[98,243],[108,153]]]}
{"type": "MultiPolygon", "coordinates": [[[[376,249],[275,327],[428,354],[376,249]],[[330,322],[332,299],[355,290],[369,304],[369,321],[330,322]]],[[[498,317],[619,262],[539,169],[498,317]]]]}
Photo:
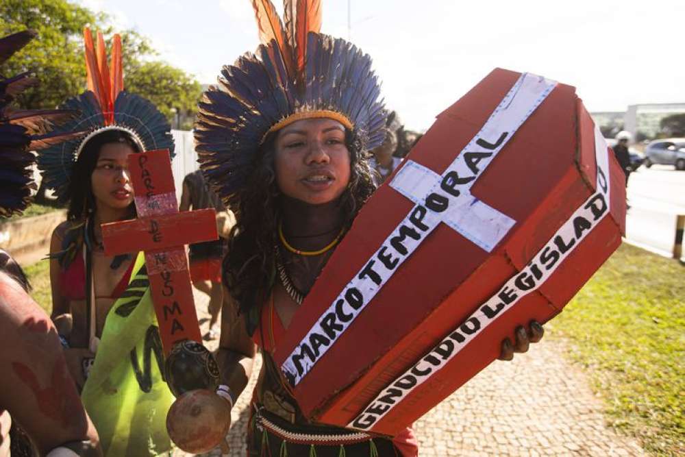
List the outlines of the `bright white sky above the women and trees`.
{"type": "MultiPolygon", "coordinates": [[[[151,38],[213,83],[254,51],[251,0],[72,0],[151,38]]],[[[280,0],[272,0],[282,10],[280,0]]],[[[411,129],[495,67],[577,88],[590,111],[685,102],[684,0],[349,0],[351,40],[374,60],[388,108],[411,129]]],[[[348,37],[348,1],[323,0],[322,32],[348,37]]]]}

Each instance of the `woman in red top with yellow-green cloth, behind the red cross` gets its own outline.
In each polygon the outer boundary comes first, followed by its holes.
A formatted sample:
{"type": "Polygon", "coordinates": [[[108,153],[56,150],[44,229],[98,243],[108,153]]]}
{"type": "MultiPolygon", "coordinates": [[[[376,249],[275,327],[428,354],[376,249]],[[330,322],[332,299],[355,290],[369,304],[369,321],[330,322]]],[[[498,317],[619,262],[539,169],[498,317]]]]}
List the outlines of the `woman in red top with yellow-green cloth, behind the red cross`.
{"type": "Polygon", "coordinates": [[[38,167],[67,219],[53,232],[53,319],[105,455],[157,455],[171,448],[164,421],[173,396],[142,253],[108,257],[100,225],[136,217],[127,156],[173,153],[171,127],[147,100],[124,90],[121,40],[84,30],[88,90],[64,103],[81,112],[66,129],[84,138],[40,153],[38,167]]]}

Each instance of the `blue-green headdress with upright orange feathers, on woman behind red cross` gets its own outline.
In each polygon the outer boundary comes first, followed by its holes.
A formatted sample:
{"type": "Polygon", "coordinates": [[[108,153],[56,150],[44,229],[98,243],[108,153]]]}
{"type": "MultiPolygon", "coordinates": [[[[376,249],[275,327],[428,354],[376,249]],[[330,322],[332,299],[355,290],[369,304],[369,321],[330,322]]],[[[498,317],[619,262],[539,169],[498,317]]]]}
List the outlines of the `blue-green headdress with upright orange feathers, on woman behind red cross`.
{"type": "Polygon", "coordinates": [[[112,40],[110,62],[107,61],[105,40],[100,32],[94,45],[90,29],[86,27],[84,47],[88,90],[67,100],[61,108],[81,112],[80,116],[62,128],[86,130],[87,134],[84,138],[51,147],[38,155],[38,169],[61,202],[69,199],[69,181],[76,160],[88,141],[102,132],[126,132],[138,144],[140,151],[169,149],[173,157],[171,125],[164,115],[146,99],[124,90],[119,35],[114,35],[112,40]]]}

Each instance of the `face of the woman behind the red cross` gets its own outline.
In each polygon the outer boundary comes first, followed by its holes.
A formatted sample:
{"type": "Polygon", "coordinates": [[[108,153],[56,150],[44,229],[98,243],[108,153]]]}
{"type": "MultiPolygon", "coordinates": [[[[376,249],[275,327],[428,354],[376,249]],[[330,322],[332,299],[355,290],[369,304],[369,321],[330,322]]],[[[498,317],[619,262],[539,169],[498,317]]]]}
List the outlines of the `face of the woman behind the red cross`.
{"type": "Polygon", "coordinates": [[[127,156],[134,153],[126,143],[106,143],[100,149],[95,170],[90,175],[92,193],[98,207],[125,209],[133,201],[133,186],[127,156]]]}

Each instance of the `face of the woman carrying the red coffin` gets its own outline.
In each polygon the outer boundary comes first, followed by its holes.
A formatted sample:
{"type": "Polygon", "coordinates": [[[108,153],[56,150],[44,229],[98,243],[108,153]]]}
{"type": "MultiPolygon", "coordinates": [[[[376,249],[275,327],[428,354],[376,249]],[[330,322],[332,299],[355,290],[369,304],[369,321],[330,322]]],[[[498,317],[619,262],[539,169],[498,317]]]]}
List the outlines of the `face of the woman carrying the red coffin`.
{"type": "Polygon", "coordinates": [[[345,127],[333,119],[303,119],[280,130],[274,166],[279,189],[312,205],[334,201],[350,177],[345,127]]]}

